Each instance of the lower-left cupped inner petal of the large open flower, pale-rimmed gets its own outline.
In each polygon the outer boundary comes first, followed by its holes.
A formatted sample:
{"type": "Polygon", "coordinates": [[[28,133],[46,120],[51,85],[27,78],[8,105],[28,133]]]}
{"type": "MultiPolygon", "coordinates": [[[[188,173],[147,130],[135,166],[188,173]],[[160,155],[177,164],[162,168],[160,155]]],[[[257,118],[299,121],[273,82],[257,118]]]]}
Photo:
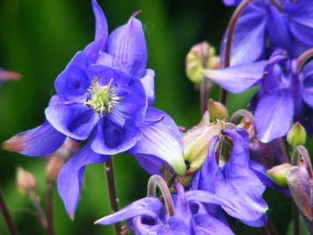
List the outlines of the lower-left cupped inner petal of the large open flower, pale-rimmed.
{"type": "Polygon", "coordinates": [[[86,140],[99,122],[97,114],[83,103],[65,105],[57,103],[61,103],[61,98],[55,95],[45,110],[47,120],[66,136],[86,140]]]}

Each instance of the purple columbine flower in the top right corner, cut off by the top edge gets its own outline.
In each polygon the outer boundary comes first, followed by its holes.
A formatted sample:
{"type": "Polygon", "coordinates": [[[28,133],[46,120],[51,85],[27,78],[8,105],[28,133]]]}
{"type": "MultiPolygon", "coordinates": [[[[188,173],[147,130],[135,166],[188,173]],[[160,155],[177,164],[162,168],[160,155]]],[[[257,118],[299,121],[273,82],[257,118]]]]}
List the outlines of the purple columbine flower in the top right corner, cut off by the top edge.
{"type": "MultiPolygon", "coordinates": [[[[240,2],[224,0],[227,6],[240,2]]],[[[291,58],[313,47],[312,1],[272,2],[253,1],[239,17],[232,40],[231,65],[264,58],[266,44],[287,50],[291,58]]]]}

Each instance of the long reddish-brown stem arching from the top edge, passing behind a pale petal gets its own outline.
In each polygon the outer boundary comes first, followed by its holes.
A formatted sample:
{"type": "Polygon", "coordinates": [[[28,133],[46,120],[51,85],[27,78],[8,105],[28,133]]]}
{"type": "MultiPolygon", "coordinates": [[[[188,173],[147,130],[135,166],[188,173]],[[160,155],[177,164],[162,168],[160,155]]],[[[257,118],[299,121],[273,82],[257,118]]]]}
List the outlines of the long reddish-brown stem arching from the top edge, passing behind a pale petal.
{"type": "MultiPolygon", "coordinates": [[[[239,6],[237,6],[236,10],[232,14],[232,17],[230,18],[230,22],[227,26],[227,32],[226,32],[226,36],[225,36],[225,40],[224,40],[225,53],[224,53],[222,68],[230,67],[230,56],[231,56],[230,52],[232,49],[232,36],[234,35],[234,29],[236,26],[236,22],[239,19],[239,16],[243,12],[243,10],[246,8],[246,6],[248,6],[252,1],[254,1],[254,0],[243,0],[243,1],[241,1],[239,6]]],[[[225,89],[222,88],[220,90],[220,103],[225,105],[226,99],[227,99],[227,92],[225,89]]]]}

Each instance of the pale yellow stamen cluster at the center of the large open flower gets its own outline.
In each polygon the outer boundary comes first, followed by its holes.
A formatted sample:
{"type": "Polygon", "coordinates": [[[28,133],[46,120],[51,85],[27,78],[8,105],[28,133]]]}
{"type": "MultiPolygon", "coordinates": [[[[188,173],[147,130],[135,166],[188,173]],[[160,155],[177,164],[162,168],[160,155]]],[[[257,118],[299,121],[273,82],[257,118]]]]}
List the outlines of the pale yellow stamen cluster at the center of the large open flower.
{"type": "Polygon", "coordinates": [[[113,79],[109,82],[107,86],[99,86],[97,76],[93,80],[93,86],[88,88],[90,92],[90,99],[88,99],[85,104],[89,106],[99,117],[103,117],[104,113],[111,113],[113,107],[116,104],[120,104],[120,100],[124,97],[119,97],[116,95],[116,89],[111,88],[113,79]]]}

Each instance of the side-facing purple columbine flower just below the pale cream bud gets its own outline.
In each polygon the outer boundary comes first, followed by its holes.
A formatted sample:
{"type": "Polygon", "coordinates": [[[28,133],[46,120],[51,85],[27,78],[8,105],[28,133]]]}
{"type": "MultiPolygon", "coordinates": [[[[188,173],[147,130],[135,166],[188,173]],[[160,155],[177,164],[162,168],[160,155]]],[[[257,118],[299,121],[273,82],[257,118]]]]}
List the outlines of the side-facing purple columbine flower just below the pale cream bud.
{"type": "MultiPolygon", "coordinates": [[[[223,129],[233,140],[230,158],[223,167],[216,163],[214,149],[218,138],[212,140],[207,160],[193,179],[193,190],[208,191],[223,198],[231,198],[236,211],[221,206],[230,216],[250,226],[260,227],[266,223],[267,204],[262,199],[265,186],[250,168],[248,133],[244,129],[223,129]]],[[[257,163],[255,163],[257,164],[257,163]]],[[[220,206],[210,206],[212,215],[226,223],[220,206]]]]}

